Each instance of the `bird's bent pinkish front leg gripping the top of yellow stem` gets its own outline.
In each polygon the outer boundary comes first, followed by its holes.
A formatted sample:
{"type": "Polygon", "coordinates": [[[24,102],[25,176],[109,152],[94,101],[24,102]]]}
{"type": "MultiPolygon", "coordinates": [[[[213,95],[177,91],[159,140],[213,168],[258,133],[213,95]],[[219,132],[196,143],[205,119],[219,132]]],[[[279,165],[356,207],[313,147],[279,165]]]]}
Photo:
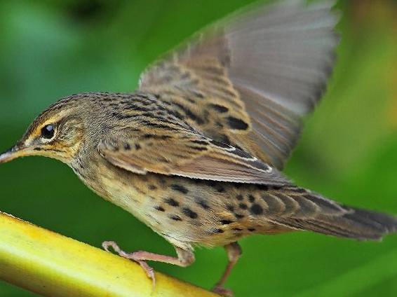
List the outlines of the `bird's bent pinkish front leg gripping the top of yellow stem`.
{"type": "Polygon", "coordinates": [[[102,247],[105,251],[109,251],[109,247],[112,247],[119,256],[133,260],[141,265],[147,276],[152,279],[153,287],[156,285],[156,278],[154,277],[154,270],[150,267],[146,261],[157,261],[163,263],[169,263],[173,265],[178,265],[182,267],[187,267],[194,262],[193,251],[189,249],[181,249],[180,247],[175,247],[177,252],[177,258],[172,256],[164,256],[159,254],[150,253],[149,251],[134,251],[132,253],[127,253],[120,249],[120,247],[113,241],[102,242],[102,247]]]}

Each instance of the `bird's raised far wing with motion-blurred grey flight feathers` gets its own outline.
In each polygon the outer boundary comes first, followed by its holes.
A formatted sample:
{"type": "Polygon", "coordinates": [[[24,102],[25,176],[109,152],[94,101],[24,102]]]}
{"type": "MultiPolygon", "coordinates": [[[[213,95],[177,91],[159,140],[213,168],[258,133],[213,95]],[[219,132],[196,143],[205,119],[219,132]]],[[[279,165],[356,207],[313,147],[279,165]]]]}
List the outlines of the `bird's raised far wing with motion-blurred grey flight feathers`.
{"type": "Polygon", "coordinates": [[[144,71],[140,90],[206,136],[281,168],[334,64],[333,3],[281,1],[231,16],[144,71]]]}

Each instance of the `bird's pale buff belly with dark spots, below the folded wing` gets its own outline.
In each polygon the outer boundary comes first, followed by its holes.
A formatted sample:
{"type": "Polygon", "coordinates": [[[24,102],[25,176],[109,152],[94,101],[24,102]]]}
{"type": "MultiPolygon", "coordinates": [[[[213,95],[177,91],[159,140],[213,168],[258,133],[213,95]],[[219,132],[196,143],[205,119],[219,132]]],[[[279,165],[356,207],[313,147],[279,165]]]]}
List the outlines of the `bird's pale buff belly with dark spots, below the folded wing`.
{"type": "Polygon", "coordinates": [[[205,181],[159,174],[102,172],[98,177],[101,191],[94,191],[177,247],[220,246],[253,233],[250,219],[236,219],[228,203],[233,188],[227,183],[211,186],[205,181]]]}

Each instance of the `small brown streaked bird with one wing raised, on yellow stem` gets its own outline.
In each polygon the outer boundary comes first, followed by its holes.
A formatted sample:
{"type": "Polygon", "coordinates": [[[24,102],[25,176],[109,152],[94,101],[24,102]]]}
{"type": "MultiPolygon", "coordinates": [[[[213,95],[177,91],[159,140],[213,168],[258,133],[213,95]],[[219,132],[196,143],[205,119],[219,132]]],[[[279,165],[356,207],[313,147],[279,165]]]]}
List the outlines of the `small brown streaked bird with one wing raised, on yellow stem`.
{"type": "Polygon", "coordinates": [[[229,264],[246,235],[292,230],[379,240],[397,219],[347,207],[281,173],[302,117],[334,64],[332,1],[255,6],[217,23],[149,67],[137,92],[60,99],[34,120],[0,163],[46,156],[66,163],[95,193],[173,244],[177,258],[121,256],[180,266],[193,247],[224,246],[229,264]]]}

